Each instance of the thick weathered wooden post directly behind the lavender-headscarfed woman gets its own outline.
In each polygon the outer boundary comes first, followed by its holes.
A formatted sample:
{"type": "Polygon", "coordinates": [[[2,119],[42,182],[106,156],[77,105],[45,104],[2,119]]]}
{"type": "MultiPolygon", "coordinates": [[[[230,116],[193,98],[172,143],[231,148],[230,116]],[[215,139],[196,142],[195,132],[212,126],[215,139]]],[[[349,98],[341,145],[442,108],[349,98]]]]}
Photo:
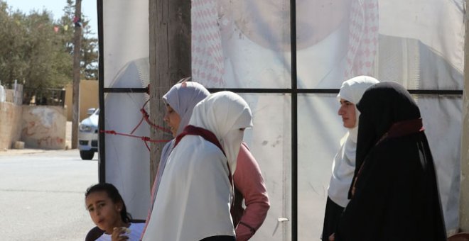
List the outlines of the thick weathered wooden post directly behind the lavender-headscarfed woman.
{"type": "MultiPolygon", "coordinates": [[[[163,126],[166,108],[161,97],[179,79],[190,76],[190,1],[149,0],[150,26],[150,120],[163,126]]],[[[151,130],[151,139],[171,139],[161,130],[151,130]]],[[[161,149],[166,143],[152,143],[150,186],[156,176],[161,149]]]]}

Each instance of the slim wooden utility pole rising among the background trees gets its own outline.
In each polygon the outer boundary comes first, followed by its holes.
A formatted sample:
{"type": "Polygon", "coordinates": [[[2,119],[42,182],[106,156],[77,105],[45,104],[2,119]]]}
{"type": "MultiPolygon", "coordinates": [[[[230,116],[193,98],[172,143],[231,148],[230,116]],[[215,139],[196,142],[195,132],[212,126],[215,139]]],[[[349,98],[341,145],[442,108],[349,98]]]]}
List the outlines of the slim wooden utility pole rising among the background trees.
{"type": "Polygon", "coordinates": [[[72,149],[77,148],[80,123],[80,48],[82,43],[82,0],[75,0],[75,35],[73,40],[72,149]]]}

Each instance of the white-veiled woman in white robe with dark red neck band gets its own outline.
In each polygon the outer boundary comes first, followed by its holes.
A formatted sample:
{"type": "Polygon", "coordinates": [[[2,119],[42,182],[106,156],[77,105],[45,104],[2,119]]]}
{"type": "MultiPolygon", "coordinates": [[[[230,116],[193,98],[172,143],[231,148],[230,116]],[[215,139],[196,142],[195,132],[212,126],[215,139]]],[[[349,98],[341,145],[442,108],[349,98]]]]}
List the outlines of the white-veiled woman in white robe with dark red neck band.
{"type": "Polygon", "coordinates": [[[195,106],[161,176],[143,240],[234,240],[232,174],[252,113],[222,91],[195,106]]]}

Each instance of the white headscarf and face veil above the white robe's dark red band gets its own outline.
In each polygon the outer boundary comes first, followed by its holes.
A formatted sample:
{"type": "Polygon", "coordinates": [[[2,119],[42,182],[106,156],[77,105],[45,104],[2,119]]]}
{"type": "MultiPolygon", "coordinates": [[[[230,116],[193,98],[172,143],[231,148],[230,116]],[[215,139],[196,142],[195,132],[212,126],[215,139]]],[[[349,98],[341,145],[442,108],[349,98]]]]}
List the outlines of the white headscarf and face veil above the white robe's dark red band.
{"type": "Polygon", "coordinates": [[[239,129],[252,127],[252,113],[246,101],[230,91],[212,94],[195,106],[189,124],[215,134],[233,174],[243,137],[239,129]]]}

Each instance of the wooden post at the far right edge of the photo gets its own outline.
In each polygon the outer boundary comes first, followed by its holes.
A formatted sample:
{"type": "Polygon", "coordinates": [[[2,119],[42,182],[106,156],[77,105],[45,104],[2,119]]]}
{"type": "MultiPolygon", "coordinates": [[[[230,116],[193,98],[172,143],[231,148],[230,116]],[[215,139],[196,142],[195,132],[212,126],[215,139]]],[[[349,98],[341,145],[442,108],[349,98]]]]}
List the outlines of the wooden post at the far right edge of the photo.
{"type": "MultiPolygon", "coordinates": [[[[469,0],[465,5],[469,6],[469,0]]],[[[469,13],[465,12],[465,43],[464,43],[464,90],[463,90],[463,130],[461,137],[461,178],[459,196],[459,227],[469,232],[469,13]]]]}

